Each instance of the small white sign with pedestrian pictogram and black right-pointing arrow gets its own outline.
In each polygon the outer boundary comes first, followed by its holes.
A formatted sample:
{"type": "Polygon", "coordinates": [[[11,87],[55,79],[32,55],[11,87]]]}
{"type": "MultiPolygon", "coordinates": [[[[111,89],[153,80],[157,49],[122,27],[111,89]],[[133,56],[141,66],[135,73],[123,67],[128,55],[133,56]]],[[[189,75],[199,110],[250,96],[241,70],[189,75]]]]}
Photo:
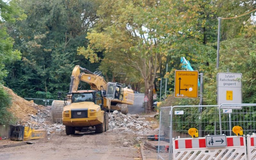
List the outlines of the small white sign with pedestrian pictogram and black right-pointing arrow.
{"type": "Polygon", "coordinates": [[[206,147],[227,147],[226,135],[205,136],[206,147]]]}

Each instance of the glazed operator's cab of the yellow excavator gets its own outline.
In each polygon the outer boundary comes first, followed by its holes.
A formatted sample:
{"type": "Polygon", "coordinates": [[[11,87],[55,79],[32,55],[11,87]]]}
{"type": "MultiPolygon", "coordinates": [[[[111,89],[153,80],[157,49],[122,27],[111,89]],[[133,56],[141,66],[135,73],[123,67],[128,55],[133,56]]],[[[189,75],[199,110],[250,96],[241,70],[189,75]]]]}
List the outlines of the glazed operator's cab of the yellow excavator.
{"type": "Polygon", "coordinates": [[[122,84],[116,82],[108,82],[107,88],[107,98],[114,100],[123,100],[124,97],[124,88],[122,84]]]}

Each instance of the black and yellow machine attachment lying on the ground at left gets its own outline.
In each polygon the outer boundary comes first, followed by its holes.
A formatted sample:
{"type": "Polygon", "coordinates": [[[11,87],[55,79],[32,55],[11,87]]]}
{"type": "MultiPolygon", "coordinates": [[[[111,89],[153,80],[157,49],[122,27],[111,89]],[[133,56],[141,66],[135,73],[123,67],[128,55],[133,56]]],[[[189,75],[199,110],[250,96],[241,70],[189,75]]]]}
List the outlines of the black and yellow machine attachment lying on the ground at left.
{"type": "Polygon", "coordinates": [[[20,125],[10,125],[10,131],[8,135],[8,139],[18,140],[18,141],[26,141],[33,140],[39,138],[45,138],[47,136],[46,130],[35,130],[34,128],[30,128],[28,126],[22,125],[28,122],[21,122],[20,125]]]}

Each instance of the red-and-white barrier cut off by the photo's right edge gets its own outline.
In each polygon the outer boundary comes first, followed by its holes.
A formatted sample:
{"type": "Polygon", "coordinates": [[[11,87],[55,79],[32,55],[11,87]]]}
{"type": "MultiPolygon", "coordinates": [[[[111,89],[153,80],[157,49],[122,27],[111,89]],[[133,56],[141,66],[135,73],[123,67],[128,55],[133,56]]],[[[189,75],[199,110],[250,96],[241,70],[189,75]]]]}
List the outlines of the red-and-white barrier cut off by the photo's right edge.
{"type": "Polygon", "coordinates": [[[256,160],[256,134],[247,135],[247,154],[249,160],[256,160]]]}

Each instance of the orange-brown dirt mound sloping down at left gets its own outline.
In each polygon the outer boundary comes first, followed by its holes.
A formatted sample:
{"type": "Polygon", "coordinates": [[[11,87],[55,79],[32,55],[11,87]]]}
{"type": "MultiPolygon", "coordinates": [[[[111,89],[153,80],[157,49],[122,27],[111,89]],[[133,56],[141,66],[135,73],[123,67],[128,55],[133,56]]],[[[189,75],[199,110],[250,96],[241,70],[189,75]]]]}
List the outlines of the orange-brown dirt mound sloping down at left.
{"type": "Polygon", "coordinates": [[[44,106],[37,105],[31,101],[27,101],[17,94],[15,94],[11,89],[3,86],[4,90],[11,95],[12,106],[8,110],[13,113],[14,116],[18,117],[21,121],[30,120],[29,114],[36,115],[37,110],[43,108],[44,106]]]}

